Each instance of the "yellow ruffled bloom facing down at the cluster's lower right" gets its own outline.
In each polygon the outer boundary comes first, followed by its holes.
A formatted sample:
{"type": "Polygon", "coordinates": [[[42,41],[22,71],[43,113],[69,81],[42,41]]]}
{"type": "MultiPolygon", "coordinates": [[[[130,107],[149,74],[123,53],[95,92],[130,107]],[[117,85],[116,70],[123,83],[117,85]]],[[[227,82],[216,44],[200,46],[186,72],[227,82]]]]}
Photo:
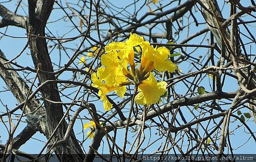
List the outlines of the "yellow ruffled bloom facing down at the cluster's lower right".
{"type": "Polygon", "coordinates": [[[167,83],[158,82],[151,72],[149,77],[139,85],[139,93],[135,96],[135,102],[140,105],[151,105],[157,103],[160,96],[166,92],[167,83]]]}

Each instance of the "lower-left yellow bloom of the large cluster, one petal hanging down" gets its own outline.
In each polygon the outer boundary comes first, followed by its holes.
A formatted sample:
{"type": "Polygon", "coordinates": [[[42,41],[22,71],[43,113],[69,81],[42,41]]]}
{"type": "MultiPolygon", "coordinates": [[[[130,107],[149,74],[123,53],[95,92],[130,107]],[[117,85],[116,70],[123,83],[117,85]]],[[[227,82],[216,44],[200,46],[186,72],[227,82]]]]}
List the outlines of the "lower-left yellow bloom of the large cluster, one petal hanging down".
{"type": "Polygon", "coordinates": [[[105,111],[109,111],[112,108],[112,105],[107,98],[107,94],[110,93],[113,90],[116,90],[116,87],[114,86],[108,86],[108,84],[103,83],[102,81],[99,80],[99,78],[96,76],[96,73],[93,72],[92,74],[92,86],[95,88],[99,88],[99,96],[100,99],[103,101],[103,107],[105,111]]]}

